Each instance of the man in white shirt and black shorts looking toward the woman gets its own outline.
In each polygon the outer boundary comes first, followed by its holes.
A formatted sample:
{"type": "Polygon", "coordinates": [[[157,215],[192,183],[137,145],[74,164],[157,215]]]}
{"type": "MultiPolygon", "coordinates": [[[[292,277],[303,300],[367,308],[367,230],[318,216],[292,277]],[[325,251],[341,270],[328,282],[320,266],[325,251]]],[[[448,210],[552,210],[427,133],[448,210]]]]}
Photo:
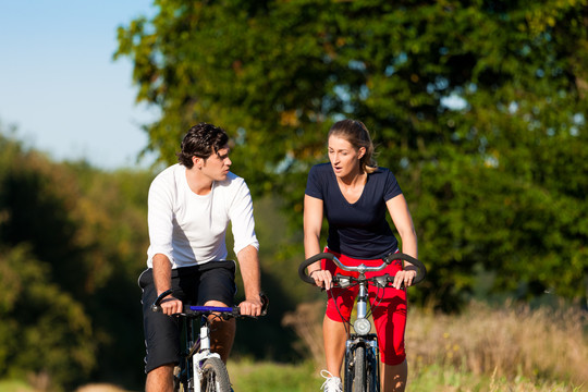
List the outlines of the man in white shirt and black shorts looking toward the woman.
{"type": "MultiPolygon", "coordinates": [[[[233,306],[235,262],[226,260],[224,242],[229,222],[245,289],[241,313],[261,313],[252,197],[245,181],[229,171],[228,142],[220,127],[206,123],[193,126],[182,142],[179,163],[157,175],[149,188],[148,269],[139,277],[147,392],[173,388],[180,336],[175,319],[168,315],[180,313],[183,302],[233,306]],[[173,293],[163,299],[162,313],[151,311],[156,297],[169,289],[173,293]]],[[[211,321],[211,348],[226,362],[235,320],[211,321]]]]}

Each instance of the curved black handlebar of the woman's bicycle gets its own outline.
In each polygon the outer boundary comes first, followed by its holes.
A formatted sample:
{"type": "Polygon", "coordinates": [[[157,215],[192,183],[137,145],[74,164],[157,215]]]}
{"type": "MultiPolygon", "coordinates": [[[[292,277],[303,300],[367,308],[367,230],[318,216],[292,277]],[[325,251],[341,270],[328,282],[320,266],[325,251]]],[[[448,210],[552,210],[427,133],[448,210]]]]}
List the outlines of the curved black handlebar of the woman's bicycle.
{"type": "Polygon", "coordinates": [[[335,255],[331,253],[320,253],[320,254],[317,254],[315,256],[307,258],[301,264],[301,266],[298,267],[298,275],[301,277],[301,279],[305,281],[306,283],[315,284],[315,280],[306,274],[306,268],[310,266],[311,264],[326,259],[326,258],[332,260],[335,265],[338,265],[341,269],[345,271],[355,271],[359,273],[381,271],[385,267],[388,267],[390,264],[392,264],[392,261],[394,260],[404,260],[404,261],[408,261],[409,264],[412,264],[413,266],[417,268],[417,275],[415,280],[413,281],[413,284],[418,284],[422,282],[422,280],[425,280],[425,277],[427,275],[427,268],[420,260],[414,258],[413,256],[402,254],[402,253],[395,253],[395,254],[390,254],[385,256],[384,258],[382,258],[382,264],[376,267],[367,267],[364,264],[357,267],[345,266],[343,262],[341,262],[341,260],[335,255]]]}

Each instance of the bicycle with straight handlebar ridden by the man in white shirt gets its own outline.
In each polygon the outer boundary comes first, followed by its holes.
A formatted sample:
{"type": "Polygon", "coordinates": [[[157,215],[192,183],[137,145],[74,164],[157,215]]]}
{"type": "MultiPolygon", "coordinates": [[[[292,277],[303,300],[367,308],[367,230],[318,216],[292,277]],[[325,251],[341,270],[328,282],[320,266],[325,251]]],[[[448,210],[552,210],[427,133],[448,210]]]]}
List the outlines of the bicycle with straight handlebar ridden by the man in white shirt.
{"type": "MultiPolygon", "coordinates": [[[[162,299],[171,294],[168,290],[161,293],[154,305],[152,311],[161,311],[162,299]]],[[[269,299],[261,295],[264,304],[261,316],[267,315],[269,299]]],[[[231,380],[226,366],[217,353],[210,351],[210,320],[208,316],[229,319],[231,317],[252,317],[241,315],[238,306],[194,306],[184,305],[180,314],[172,315],[182,320],[182,343],[180,365],[173,371],[173,390],[176,392],[231,392],[231,380]],[[199,326],[196,323],[199,322],[199,326]],[[199,331],[199,332],[197,332],[199,331]]]]}

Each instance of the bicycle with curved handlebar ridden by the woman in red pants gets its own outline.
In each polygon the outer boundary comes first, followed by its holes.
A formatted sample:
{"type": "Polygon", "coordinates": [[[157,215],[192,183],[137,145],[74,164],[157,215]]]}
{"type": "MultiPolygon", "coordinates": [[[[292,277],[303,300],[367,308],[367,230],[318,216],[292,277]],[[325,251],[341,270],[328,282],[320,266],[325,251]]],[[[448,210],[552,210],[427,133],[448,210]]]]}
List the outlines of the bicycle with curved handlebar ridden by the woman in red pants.
{"type": "Polygon", "coordinates": [[[371,331],[371,322],[367,314],[368,285],[372,284],[377,287],[384,289],[394,282],[394,277],[384,273],[373,278],[366,278],[365,273],[381,271],[394,260],[408,261],[418,269],[417,277],[413,282],[413,284],[418,284],[427,275],[427,269],[421,261],[401,253],[385,256],[382,259],[383,262],[377,267],[367,267],[364,264],[357,267],[350,267],[343,265],[333,254],[320,253],[301,264],[298,268],[301,279],[306,283],[315,284],[315,280],[306,274],[306,268],[326,258],[332,260],[345,271],[359,272],[357,278],[338,273],[332,280],[334,287],[348,289],[352,285],[359,286],[356,307],[357,317],[353,323],[351,320],[346,322],[346,324],[353,327],[355,333],[348,333],[348,339],[345,342],[345,367],[343,369],[344,392],[379,392],[380,353],[378,336],[375,333],[369,333],[371,331]]]}

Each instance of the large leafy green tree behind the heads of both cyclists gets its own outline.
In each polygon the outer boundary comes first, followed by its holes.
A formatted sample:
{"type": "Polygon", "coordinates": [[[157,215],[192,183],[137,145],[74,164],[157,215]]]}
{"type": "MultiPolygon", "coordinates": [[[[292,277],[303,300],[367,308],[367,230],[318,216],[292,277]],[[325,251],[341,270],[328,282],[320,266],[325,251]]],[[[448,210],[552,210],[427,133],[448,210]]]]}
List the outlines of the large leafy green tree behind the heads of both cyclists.
{"type": "Polygon", "coordinates": [[[194,122],[225,126],[237,174],[299,228],[326,131],[357,118],[401,181],[443,306],[478,268],[523,296],[585,295],[586,0],[155,3],[119,28],[115,58],[161,109],[145,130],[162,161],[194,122]]]}

